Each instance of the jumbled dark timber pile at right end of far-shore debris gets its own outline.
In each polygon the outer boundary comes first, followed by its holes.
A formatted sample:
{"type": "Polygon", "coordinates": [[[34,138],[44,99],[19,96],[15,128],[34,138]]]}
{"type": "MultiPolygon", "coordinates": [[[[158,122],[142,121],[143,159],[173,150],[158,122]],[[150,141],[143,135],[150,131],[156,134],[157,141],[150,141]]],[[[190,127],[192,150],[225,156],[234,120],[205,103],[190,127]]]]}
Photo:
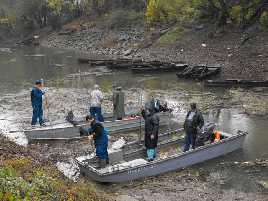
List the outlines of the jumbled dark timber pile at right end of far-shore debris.
{"type": "Polygon", "coordinates": [[[215,65],[196,65],[189,66],[184,71],[177,73],[178,78],[203,80],[211,76],[216,76],[221,72],[221,66],[215,65]]]}

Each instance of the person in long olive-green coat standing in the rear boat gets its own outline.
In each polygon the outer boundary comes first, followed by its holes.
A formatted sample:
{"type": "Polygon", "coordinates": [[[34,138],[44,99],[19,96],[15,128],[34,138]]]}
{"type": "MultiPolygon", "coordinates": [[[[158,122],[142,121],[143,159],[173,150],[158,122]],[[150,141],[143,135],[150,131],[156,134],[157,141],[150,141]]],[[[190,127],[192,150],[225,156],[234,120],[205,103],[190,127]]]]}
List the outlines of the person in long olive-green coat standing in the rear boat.
{"type": "Polygon", "coordinates": [[[114,119],[122,120],[125,116],[125,94],[121,87],[117,87],[113,93],[114,119]]]}

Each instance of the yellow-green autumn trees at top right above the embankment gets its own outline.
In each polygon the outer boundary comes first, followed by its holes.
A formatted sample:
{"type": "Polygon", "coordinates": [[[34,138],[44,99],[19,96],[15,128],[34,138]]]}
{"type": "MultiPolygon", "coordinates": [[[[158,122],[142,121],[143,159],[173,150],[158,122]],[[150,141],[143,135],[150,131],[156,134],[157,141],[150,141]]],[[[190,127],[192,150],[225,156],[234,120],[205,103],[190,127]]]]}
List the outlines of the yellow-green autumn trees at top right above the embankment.
{"type": "Polygon", "coordinates": [[[149,0],[149,23],[205,19],[224,26],[245,29],[257,22],[268,27],[268,0],[149,0]]]}

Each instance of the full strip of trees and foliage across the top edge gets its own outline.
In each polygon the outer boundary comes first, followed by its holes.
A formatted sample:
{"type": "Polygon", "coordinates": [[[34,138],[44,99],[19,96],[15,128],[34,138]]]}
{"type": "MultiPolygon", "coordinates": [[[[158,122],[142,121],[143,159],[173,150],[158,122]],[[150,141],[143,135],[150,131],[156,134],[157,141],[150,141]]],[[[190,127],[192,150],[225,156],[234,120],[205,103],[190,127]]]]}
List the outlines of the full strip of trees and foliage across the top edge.
{"type": "Polygon", "coordinates": [[[201,19],[242,29],[255,23],[268,27],[268,0],[1,0],[0,28],[59,28],[73,18],[116,9],[143,12],[150,26],[201,19]]]}

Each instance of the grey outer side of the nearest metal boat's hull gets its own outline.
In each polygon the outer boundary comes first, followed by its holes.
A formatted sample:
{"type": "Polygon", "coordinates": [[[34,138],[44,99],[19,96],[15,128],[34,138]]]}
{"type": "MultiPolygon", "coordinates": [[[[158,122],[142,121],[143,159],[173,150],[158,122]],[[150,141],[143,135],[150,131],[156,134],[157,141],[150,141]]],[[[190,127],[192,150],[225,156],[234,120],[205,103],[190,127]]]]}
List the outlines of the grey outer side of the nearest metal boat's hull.
{"type": "Polygon", "coordinates": [[[178,170],[231,153],[237,149],[242,148],[245,136],[246,134],[237,134],[235,136],[223,139],[220,142],[199,147],[186,153],[173,155],[161,161],[155,161],[146,165],[141,165],[108,174],[100,174],[93,169],[88,169],[88,167],[80,162],[78,162],[78,165],[83,175],[95,181],[104,183],[126,182],[178,170]]]}

